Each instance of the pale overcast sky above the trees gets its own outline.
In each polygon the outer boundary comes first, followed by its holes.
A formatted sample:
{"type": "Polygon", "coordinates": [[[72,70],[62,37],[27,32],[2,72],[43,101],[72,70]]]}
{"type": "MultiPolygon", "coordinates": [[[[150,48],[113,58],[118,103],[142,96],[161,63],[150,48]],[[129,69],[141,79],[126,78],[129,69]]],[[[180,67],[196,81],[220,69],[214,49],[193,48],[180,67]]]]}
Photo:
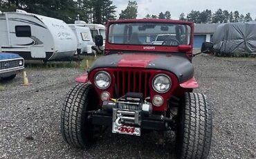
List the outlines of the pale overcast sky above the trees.
{"type": "MultiPolygon", "coordinates": [[[[121,10],[125,10],[129,0],[113,0],[113,5],[117,6],[116,15],[119,17],[121,10]]],[[[134,1],[134,0],[130,0],[134,1]]],[[[228,10],[228,12],[238,10],[240,14],[246,15],[250,12],[253,19],[256,18],[255,0],[136,0],[138,3],[138,17],[144,18],[147,14],[159,15],[160,12],[170,11],[172,19],[179,19],[181,12],[187,15],[191,10],[203,11],[210,9],[212,12],[218,8],[228,10]]]]}

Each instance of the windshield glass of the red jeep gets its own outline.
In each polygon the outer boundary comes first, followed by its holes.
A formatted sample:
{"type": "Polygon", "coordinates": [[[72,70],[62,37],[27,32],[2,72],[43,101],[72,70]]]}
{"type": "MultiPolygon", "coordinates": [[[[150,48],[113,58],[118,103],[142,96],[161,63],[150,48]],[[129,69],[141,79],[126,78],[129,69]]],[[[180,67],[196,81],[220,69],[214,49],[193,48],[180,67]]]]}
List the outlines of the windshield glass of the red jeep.
{"type": "Polygon", "coordinates": [[[178,46],[190,44],[191,28],[181,24],[111,24],[111,44],[178,46]]]}

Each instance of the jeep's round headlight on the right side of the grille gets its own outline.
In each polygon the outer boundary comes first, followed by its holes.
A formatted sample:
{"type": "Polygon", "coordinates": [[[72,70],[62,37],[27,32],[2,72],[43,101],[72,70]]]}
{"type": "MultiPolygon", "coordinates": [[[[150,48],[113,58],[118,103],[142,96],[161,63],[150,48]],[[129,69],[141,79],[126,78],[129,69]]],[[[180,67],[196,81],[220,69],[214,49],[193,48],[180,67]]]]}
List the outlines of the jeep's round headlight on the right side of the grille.
{"type": "Polygon", "coordinates": [[[158,93],[165,93],[170,90],[172,81],[170,77],[165,74],[156,75],[153,79],[154,91],[158,93]]]}

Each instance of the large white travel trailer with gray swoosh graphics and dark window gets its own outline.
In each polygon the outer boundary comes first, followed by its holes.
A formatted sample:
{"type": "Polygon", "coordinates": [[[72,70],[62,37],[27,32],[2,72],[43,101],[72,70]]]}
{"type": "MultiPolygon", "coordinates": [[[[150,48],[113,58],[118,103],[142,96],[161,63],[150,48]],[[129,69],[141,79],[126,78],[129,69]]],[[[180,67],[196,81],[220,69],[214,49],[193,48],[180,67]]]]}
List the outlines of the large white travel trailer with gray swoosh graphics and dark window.
{"type": "Polygon", "coordinates": [[[77,39],[71,28],[59,19],[23,10],[0,14],[0,51],[17,53],[24,59],[71,59],[77,39]]]}

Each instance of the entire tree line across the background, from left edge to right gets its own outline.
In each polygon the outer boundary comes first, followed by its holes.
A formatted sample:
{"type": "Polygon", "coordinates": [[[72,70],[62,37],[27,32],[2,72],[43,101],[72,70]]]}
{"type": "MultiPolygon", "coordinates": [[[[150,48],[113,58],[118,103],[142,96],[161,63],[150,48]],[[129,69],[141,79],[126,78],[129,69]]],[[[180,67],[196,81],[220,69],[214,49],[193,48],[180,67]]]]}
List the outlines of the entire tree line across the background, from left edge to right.
{"type": "MultiPolygon", "coordinates": [[[[111,0],[0,0],[2,12],[15,11],[16,9],[62,19],[66,23],[73,23],[80,19],[87,23],[105,24],[107,21],[117,18],[116,6],[111,0]]],[[[136,19],[137,16],[138,3],[129,1],[127,8],[120,12],[119,19],[136,19]]],[[[171,12],[167,10],[160,12],[159,15],[147,14],[145,18],[171,19],[171,16],[171,12]]],[[[202,12],[192,10],[187,15],[181,13],[179,19],[193,21],[196,24],[253,21],[250,12],[243,15],[237,10],[229,12],[221,8],[215,12],[208,9],[202,12]]]]}

